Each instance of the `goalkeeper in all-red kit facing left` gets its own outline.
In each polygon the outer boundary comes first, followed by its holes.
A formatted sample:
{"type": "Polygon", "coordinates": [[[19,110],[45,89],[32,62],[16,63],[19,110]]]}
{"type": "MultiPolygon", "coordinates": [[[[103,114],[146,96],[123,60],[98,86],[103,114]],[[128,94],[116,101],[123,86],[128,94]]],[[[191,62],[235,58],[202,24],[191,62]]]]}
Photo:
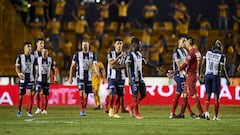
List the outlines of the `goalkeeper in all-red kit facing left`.
{"type": "Polygon", "coordinates": [[[201,53],[194,47],[194,39],[192,37],[187,37],[186,48],[189,52],[184,64],[178,67],[177,72],[186,69],[187,78],[183,90],[183,103],[181,112],[175,118],[184,118],[184,112],[188,104],[188,95],[190,95],[196,103],[197,109],[199,111],[199,118],[204,118],[202,105],[200,103],[196,90],[196,82],[198,80],[198,65],[201,59],[201,53]]]}

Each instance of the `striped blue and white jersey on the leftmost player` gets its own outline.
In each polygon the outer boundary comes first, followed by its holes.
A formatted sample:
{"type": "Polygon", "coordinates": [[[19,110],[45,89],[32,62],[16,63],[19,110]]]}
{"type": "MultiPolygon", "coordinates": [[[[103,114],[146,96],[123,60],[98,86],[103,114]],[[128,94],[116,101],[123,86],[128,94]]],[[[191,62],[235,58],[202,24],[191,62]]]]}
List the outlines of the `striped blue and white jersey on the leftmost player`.
{"type": "Polygon", "coordinates": [[[34,81],[34,75],[33,75],[33,67],[34,67],[34,55],[25,55],[25,54],[20,54],[15,62],[15,66],[20,67],[20,72],[24,74],[25,82],[32,82],[34,81]]]}

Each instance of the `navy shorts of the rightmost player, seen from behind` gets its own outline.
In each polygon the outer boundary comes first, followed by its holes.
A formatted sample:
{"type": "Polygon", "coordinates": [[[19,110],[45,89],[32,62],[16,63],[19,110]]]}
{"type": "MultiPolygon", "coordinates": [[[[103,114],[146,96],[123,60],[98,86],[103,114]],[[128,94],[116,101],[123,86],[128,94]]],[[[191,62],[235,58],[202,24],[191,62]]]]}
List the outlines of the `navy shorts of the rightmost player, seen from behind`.
{"type": "Polygon", "coordinates": [[[205,75],[206,93],[220,94],[220,77],[216,75],[205,75]]]}

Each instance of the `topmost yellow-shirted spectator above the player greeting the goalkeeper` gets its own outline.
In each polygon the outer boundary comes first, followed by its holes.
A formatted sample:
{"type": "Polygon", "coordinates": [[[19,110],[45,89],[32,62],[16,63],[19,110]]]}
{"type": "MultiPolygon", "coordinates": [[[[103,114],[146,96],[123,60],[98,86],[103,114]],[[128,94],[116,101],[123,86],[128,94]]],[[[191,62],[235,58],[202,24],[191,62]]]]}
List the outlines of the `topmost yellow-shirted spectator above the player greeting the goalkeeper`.
{"type": "Polygon", "coordinates": [[[187,7],[182,2],[182,0],[176,0],[171,4],[171,7],[174,8],[173,13],[173,37],[176,35],[176,29],[177,29],[177,20],[183,20],[185,18],[185,14],[187,13],[187,7]]]}

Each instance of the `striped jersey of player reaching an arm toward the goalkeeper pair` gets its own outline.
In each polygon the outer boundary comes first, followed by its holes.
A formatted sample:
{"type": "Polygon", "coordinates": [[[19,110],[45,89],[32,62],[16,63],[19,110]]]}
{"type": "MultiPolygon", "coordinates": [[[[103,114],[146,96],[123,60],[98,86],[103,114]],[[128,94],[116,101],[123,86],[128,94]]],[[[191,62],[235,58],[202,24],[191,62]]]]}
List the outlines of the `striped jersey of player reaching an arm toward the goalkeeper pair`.
{"type": "Polygon", "coordinates": [[[130,51],[127,54],[125,63],[130,64],[130,75],[136,82],[143,81],[142,64],[147,64],[147,61],[142,57],[139,51],[130,51]]]}

